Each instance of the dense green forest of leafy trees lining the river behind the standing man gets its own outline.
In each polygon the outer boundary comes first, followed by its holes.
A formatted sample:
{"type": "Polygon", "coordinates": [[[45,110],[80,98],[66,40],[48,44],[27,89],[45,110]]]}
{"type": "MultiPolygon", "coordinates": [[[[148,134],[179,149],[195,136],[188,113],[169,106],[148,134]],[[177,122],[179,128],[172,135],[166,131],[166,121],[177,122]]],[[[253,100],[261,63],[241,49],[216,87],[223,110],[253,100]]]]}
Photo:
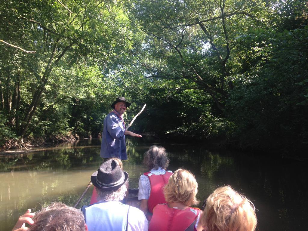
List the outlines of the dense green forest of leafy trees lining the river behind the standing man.
{"type": "Polygon", "coordinates": [[[308,145],[306,1],[3,1],[0,144],[132,129],[291,152],[308,145]]]}

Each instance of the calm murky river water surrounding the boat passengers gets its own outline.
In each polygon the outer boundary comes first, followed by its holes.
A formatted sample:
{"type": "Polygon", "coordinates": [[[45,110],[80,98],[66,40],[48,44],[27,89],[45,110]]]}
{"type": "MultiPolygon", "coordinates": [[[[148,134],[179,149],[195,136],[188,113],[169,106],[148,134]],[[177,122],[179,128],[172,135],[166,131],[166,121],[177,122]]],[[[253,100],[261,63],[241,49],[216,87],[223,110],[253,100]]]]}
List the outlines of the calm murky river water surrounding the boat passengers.
{"type": "MultiPolygon", "coordinates": [[[[193,172],[198,200],[229,184],[253,201],[257,230],[307,230],[306,162],[131,138],[127,139],[128,160],[123,163],[130,188],[136,188],[139,176],[148,171],[142,165],[143,153],[153,144],[169,152],[169,170],[181,167],[193,172]]],[[[73,206],[102,162],[99,150],[99,140],[79,140],[43,150],[0,154],[0,230],[10,231],[28,208],[36,211],[52,201],[73,206]]],[[[80,205],[90,201],[92,190],[93,186],[80,205]]]]}

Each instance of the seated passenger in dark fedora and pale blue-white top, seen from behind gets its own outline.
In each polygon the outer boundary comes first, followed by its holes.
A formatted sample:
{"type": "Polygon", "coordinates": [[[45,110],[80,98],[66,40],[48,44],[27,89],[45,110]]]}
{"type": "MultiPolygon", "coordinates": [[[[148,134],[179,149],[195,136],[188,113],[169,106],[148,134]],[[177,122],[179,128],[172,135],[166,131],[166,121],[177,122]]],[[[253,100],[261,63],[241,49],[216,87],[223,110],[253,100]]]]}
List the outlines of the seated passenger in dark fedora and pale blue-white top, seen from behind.
{"type": "Polygon", "coordinates": [[[120,201],[128,190],[128,180],[119,163],[105,161],[91,176],[97,192],[97,203],[81,208],[89,231],[136,230],[147,231],[148,221],[144,213],[120,201]]]}

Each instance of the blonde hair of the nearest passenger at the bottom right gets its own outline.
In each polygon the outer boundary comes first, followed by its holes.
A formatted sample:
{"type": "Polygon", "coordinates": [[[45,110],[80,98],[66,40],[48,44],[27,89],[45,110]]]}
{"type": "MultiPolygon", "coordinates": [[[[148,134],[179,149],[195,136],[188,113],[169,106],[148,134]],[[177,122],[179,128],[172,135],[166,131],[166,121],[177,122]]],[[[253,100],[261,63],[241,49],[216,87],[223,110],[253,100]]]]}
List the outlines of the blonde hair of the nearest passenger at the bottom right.
{"type": "Polygon", "coordinates": [[[254,231],[257,216],[251,201],[225,185],[208,197],[201,222],[207,231],[254,231]]]}

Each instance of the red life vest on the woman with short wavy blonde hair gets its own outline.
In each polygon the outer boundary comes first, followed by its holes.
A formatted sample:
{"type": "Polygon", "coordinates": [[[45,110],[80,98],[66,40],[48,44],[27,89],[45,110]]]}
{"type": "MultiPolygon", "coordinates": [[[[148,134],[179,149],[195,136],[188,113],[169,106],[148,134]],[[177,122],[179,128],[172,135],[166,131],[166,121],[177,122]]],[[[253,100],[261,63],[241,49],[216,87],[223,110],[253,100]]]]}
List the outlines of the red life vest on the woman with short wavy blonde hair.
{"type": "Polygon", "coordinates": [[[150,221],[148,231],[184,231],[198,218],[200,209],[188,207],[187,209],[169,208],[167,204],[156,205],[150,221]]]}

